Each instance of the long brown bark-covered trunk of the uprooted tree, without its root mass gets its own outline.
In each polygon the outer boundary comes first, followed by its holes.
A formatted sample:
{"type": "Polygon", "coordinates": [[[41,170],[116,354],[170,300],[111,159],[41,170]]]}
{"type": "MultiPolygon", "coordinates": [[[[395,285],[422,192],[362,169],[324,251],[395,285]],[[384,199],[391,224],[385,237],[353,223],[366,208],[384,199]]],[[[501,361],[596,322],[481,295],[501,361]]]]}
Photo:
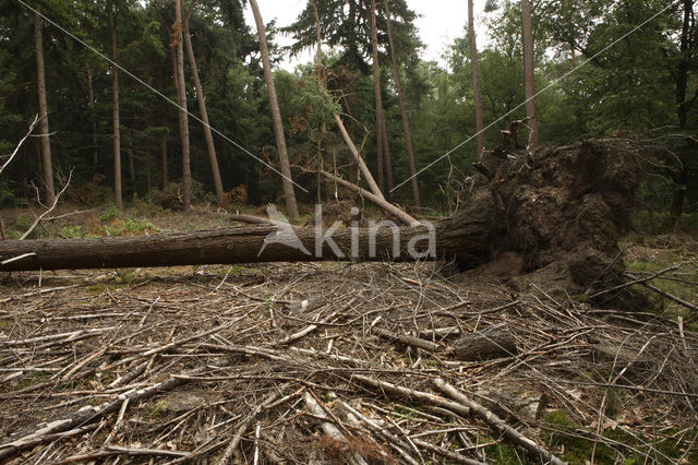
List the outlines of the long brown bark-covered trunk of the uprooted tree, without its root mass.
{"type": "MultiPolygon", "coordinates": [[[[288,226],[290,230],[291,226],[288,226]]],[[[393,241],[394,234],[388,227],[374,233],[375,253],[371,252],[369,229],[338,228],[330,241],[316,238],[313,228],[292,227],[299,247],[281,243],[285,234],[274,225],[238,226],[198,233],[177,233],[155,236],[103,237],[88,239],[40,239],[0,241],[0,262],[23,254],[22,260],[0,264],[0,271],[17,270],[77,270],[77,269],[121,269],[137,266],[173,266],[207,263],[252,263],[252,262],[297,262],[335,260],[413,260],[408,253],[410,241],[423,251],[428,246],[425,237],[430,231],[425,226],[395,228],[399,240],[393,241]],[[275,242],[274,237],[279,239],[275,242]],[[265,239],[267,239],[265,246],[265,239]],[[269,240],[272,239],[272,240],[269,240]],[[354,246],[352,247],[352,242],[354,246]],[[300,245],[305,251],[300,249],[300,245]],[[318,249],[316,249],[316,245],[318,249]],[[336,246],[335,246],[336,245],[336,246]],[[333,248],[333,246],[335,246],[333,248]],[[316,253],[320,250],[321,253],[316,253]],[[397,253],[396,253],[397,251],[397,253]]],[[[325,229],[324,233],[328,230],[325,229]]],[[[447,225],[436,225],[435,255],[454,258],[461,252],[481,253],[486,243],[472,229],[470,237],[454,236],[447,225]]],[[[286,236],[289,237],[289,236],[286,236]]],[[[291,237],[294,240],[293,237],[291,237]]],[[[291,243],[291,242],[287,242],[291,243]]],[[[424,260],[425,258],[421,258],[424,260]]]]}

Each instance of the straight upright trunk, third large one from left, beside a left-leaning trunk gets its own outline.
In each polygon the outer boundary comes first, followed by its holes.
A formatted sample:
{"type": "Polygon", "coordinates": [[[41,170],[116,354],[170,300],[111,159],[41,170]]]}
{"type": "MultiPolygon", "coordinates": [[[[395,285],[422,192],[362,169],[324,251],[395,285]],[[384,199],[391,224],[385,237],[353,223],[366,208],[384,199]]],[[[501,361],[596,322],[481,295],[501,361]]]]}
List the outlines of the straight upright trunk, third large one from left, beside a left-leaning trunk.
{"type": "Polygon", "coordinates": [[[174,45],[177,47],[177,97],[179,110],[179,133],[182,142],[182,201],[184,212],[192,208],[192,171],[189,148],[189,116],[186,112],[186,90],[184,88],[184,50],[182,47],[182,1],[174,0],[174,45]]]}

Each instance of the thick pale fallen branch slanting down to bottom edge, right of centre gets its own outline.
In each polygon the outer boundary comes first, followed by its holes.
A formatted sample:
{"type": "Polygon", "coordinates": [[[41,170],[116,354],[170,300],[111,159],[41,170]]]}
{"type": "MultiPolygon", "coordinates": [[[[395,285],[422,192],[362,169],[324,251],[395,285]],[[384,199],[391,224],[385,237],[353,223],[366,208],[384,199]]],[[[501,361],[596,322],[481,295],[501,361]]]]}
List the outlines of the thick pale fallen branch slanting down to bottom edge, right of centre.
{"type": "Polygon", "coordinates": [[[432,384],[434,384],[436,389],[438,389],[441,392],[443,392],[454,401],[462,404],[464,407],[469,408],[472,415],[485,421],[493,430],[501,433],[512,443],[519,445],[531,454],[540,457],[543,463],[564,465],[564,462],[553,455],[550,451],[543,449],[541,445],[538,445],[535,441],[525,437],[522,433],[508,426],[500,417],[497,417],[477,402],[468,398],[465,394],[458,391],[455,386],[448,384],[443,379],[433,379],[432,384]]]}

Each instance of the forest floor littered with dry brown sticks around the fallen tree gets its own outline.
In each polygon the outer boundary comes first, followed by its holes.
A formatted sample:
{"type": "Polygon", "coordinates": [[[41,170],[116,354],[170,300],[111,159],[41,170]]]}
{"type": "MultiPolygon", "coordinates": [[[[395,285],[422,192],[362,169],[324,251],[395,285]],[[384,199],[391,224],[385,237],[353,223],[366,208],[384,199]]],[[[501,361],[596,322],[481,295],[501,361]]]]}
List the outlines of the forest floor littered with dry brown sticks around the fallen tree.
{"type": "MultiPolygon", "coordinates": [[[[41,234],[228,225],[101,208],[41,234]]],[[[646,308],[601,309],[438,262],[5,273],[0,462],[540,463],[506,425],[570,463],[698,463],[698,240],[622,246],[635,279],[677,266],[647,282],[673,297],[638,284],[646,308]],[[500,323],[516,350],[458,359],[500,323]]]]}

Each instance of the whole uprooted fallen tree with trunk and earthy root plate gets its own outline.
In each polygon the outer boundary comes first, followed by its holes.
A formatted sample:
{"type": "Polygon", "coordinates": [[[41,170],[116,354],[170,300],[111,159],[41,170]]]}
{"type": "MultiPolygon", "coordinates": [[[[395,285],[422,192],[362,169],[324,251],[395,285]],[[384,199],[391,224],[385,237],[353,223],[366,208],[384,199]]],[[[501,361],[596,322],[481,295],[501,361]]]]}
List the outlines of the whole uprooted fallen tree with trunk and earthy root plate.
{"type": "MultiPolygon", "coordinates": [[[[141,237],[0,241],[0,271],[317,260],[447,259],[474,267],[514,252],[522,274],[547,271],[568,287],[621,279],[642,146],[590,140],[480,166],[462,210],[434,225],[329,229],[272,225],[141,237]]],[[[501,155],[501,154],[500,154],[501,155]]]]}

